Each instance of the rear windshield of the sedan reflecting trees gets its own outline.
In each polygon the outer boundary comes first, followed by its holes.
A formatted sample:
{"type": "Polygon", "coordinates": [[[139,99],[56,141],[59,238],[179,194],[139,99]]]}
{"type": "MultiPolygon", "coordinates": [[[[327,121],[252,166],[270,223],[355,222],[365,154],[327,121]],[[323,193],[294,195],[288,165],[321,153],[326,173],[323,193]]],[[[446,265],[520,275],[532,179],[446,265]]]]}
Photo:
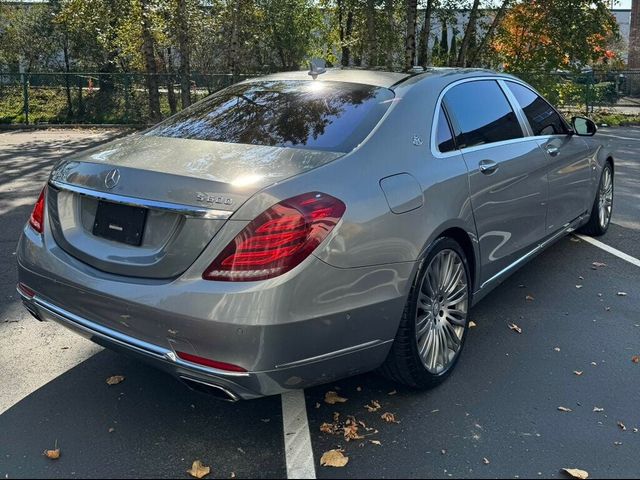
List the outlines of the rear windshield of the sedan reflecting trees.
{"type": "Polygon", "coordinates": [[[393,97],[387,88],[322,80],[239,84],[147,135],[349,152],[380,121],[393,97]]]}

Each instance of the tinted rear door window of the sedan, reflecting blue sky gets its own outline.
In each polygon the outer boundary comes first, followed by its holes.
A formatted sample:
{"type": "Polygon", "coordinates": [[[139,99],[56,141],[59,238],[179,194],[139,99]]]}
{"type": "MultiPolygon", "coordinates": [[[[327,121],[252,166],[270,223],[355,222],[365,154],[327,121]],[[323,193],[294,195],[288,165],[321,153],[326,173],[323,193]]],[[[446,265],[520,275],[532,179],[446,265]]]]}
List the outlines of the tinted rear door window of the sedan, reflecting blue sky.
{"type": "Polygon", "coordinates": [[[493,80],[456,85],[444,96],[460,129],[458,148],[522,138],[522,128],[507,97],[493,80]]]}

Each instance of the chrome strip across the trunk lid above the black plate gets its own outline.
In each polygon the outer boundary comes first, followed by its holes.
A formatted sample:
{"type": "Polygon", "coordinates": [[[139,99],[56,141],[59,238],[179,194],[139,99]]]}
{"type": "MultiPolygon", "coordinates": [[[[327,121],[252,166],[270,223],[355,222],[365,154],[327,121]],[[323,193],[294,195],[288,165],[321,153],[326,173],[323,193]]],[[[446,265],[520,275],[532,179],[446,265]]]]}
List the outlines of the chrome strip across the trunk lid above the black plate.
{"type": "Polygon", "coordinates": [[[91,190],[89,188],[70,185],[68,183],[59,182],[57,180],[49,180],[49,184],[58,190],[74,192],[78,195],[94,198],[97,200],[106,200],[108,202],[130,205],[133,207],[149,208],[151,210],[164,210],[167,212],[177,213],[186,217],[208,218],[217,220],[228,219],[233,212],[226,210],[213,210],[208,208],[196,207],[193,205],[182,205],[179,203],[161,202],[157,200],[147,200],[144,198],[127,197],[125,195],[116,195],[113,193],[91,190]]]}

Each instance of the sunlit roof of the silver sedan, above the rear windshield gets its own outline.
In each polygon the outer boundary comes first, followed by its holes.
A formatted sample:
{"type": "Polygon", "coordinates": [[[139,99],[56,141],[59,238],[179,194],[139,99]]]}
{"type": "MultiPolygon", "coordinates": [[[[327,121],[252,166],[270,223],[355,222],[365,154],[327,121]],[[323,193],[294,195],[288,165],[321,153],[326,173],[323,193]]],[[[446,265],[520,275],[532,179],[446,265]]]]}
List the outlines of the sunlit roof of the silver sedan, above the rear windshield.
{"type": "MultiPolygon", "coordinates": [[[[376,87],[391,88],[395,85],[405,83],[411,79],[411,82],[416,83],[427,79],[447,77],[449,81],[456,81],[460,78],[470,76],[491,76],[498,75],[492,70],[482,70],[476,68],[447,68],[447,67],[430,67],[421,71],[414,71],[410,73],[401,72],[388,72],[383,70],[365,70],[358,68],[328,68],[325,73],[318,75],[318,80],[335,81],[335,82],[347,82],[347,83],[361,83],[366,85],[373,85],[376,87]]],[[[253,77],[245,80],[245,82],[261,82],[269,80],[312,80],[307,70],[300,70],[294,72],[280,72],[270,75],[264,75],[260,77],[253,77]]]]}

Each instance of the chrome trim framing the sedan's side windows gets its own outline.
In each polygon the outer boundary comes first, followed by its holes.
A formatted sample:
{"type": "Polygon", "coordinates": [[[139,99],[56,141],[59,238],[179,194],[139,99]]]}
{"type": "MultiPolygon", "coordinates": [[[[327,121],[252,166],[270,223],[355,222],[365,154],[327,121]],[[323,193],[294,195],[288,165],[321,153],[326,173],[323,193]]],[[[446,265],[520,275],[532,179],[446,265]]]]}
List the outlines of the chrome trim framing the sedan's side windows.
{"type": "MultiPolygon", "coordinates": [[[[513,95],[513,93],[511,93],[511,91],[509,90],[507,85],[503,85],[501,82],[514,82],[514,83],[519,83],[520,85],[522,85],[523,87],[528,88],[529,90],[531,90],[532,92],[534,92],[536,95],[540,96],[540,98],[542,98],[545,102],[547,102],[549,105],[551,105],[551,103],[544,98],[542,95],[540,95],[538,92],[536,92],[531,86],[529,86],[528,84],[526,84],[525,82],[523,82],[522,80],[515,78],[515,77],[507,77],[507,76],[501,76],[501,75],[483,75],[483,76],[478,76],[478,77],[472,77],[472,78],[463,78],[461,80],[456,80],[455,82],[450,83],[449,85],[447,85],[446,87],[444,87],[442,89],[442,91],[440,92],[440,95],[438,95],[438,99],[436,100],[436,107],[435,110],[433,112],[433,117],[431,119],[431,139],[429,141],[429,145],[430,145],[430,149],[431,149],[431,155],[433,155],[435,158],[451,158],[451,157],[455,157],[457,155],[462,155],[464,153],[471,153],[471,152],[475,152],[478,150],[484,150],[487,148],[492,148],[492,147],[500,147],[500,146],[504,146],[504,145],[511,145],[514,143],[519,143],[519,142],[529,142],[533,139],[539,139],[539,138],[543,138],[543,137],[536,137],[535,135],[533,135],[533,131],[531,130],[531,126],[529,125],[529,121],[527,120],[526,116],[524,115],[524,111],[522,110],[522,107],[520,107],[520,105],[517,103],[517,100],[515,99],[515,96],[513,95]],[[438,113],[440,112],[440,108],[442,105],[442,100],[444,98],[444,96],[446,95],[446,93],[451,90],[453,87],[457,86],[457,85],[461,85],[463,83],[468,83],[468,82],[478,82],[478,81],[483,81],[483,80],[493,80],[498,84],[498,87],[503,91],[505,97],[507,98],[507,102],[509,103],[509,105],[511,106],[511,108],[513,109],[514,113],[516,114],[516,118],[518,118],[518,123],[520,124],[520,128],[522,129],[522,133],[523,133],[523,137],[522,138],[512,138],[510,140],[503,140],[501,142],[493,142],[493,143],[486,143],[484,145],[474,145],[473,147],[467,147],[467,148],[463,148],[463,149],[457,149],[457,150],[452,150],[450,152],[446,152],[446,153],[442,153],[440,152],[440,150],[438,150],[438,146],[436,145],[436,130],[438,127],[438,113]],[[507,91],[505,91],[507,90],[507,91]],[[514,103],[515,102],[515,105],[514,103]]],[[[558,113],[558,115],[560,115],[560,117],[563,119],[563,121],[566,122],[566,120],[564,119],[564,117],[555,109],[555,107],[553,107],[553,105],[551,105],[551,108],[554,109],[554,111],[556,113],[558,113]]],[[[562,136],[565,137],[566,135],[552,135],[552,136],[562,136]]]]}

